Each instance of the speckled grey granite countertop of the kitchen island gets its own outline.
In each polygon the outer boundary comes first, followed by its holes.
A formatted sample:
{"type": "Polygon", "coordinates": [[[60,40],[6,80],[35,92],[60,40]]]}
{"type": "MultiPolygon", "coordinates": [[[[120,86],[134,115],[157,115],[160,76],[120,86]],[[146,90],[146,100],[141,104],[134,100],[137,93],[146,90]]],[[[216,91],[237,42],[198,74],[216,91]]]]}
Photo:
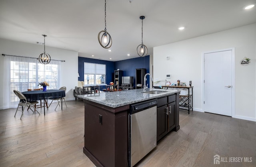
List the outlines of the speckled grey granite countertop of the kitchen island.
{"type": "Polygon", "coordinates": [[[154,98],[160,98],[161,96],[168,96],[180,90],[170,90],[170,89],[155,89],[155,88],[146,88],[145,92],[148,91],[162,91],[160,94],[148,94],[143,93],[143,89],[132,89],[132,90],[122,90],[116,92],[101,92],[95,94],[84,94],[79,95],[79,98],[84,100],[96,102],[105,106],[112,108],[125,106],[128,104],[134,104],[137,102],[142,102],[154,98]]]}

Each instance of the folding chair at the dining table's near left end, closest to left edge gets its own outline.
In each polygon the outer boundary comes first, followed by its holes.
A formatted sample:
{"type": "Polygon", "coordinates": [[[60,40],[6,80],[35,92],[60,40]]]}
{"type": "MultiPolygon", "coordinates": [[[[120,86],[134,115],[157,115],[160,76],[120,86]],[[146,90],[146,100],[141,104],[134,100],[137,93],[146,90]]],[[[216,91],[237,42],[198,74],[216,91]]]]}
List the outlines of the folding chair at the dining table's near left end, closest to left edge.
{"type": "MultiPolygon", "coordinates": [[[[19,106],[22,106],[22,110],[19,110],[19,111],[22,112],[22,114],[21,114],[21,116],[20,116],[20,119],[21,119],[22,116],[23,116],[24,107],[25,107],[25,106],[28,106],[28,108],[29,108],[30,110],[32,110],[30,107],[34,108],[33,105],[38,104],[38,101],[28,101],[27,98],[26,98],[21,92],[19,92],[18,90],[13,90],[13,92],[14,92],[14,94],[15,94],[16,96],[18,96],[18,98],[20,99],[20,102],[19,102],[19,104],[18,104],[18,107],[17,107],[17,109],[16,109],[16,112],[15,112],[14,117],[16,116],[16,113],[17,113],[17,111],[18,111],[19,106]]],[[[34,108],[34,110],[35,110],[35,112],[38,112],[38,111],[36,110],[36,108],[34,108]]],[[[33,111],[33,110],[32,110],[32,111],[33,111]]],[[[34,112],[34,111],[33,111],[33,112],[34,112]]],[[[38,114],[40,115],[39,112],[38,112],[38,114]]]]}

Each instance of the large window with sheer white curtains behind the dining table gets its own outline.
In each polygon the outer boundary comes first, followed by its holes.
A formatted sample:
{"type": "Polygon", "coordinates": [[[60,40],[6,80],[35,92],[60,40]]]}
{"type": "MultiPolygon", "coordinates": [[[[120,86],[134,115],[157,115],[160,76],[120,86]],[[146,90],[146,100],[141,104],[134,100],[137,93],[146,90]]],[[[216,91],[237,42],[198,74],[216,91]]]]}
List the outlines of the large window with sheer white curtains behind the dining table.
{"type": "Polygon", "coordinates": [[[19,98],[13,90],[20,92],[28,89],[40,88],[38,83],[46,81],[50,84],[49,89],[59,88],[60,61],[51,61],[43,65],[37,59],[28,57],[4,57],[4,94],[3,108],[17,106],[19,98]]]}

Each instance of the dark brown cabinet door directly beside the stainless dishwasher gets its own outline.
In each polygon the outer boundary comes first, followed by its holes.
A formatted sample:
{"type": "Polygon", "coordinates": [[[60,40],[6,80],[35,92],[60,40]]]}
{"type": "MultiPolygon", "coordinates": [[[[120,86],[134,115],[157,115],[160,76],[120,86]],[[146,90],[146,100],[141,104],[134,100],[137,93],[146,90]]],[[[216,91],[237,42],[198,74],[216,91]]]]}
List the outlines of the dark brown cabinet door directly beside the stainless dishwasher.
{"type": "Polygon", "coordinates": [[[166,105],[157,108],[157,141],[167,134],[167,109],[166,105]]]}

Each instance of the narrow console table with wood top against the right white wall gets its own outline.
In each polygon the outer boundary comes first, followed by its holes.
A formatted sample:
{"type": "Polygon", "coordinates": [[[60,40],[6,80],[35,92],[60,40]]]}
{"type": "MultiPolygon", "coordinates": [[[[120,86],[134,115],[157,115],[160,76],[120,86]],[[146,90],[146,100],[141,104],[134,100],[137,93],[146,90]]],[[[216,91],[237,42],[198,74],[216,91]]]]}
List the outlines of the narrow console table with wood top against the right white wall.
{"type": "Polygon", "coordinates": [[[188,95],[180,95],[180,109],[188,110],[188,114],[190,110],[193,111],[193,87],[194,86],[162,86],[162,88],[167,89],[188,89],[188,95]]]}

